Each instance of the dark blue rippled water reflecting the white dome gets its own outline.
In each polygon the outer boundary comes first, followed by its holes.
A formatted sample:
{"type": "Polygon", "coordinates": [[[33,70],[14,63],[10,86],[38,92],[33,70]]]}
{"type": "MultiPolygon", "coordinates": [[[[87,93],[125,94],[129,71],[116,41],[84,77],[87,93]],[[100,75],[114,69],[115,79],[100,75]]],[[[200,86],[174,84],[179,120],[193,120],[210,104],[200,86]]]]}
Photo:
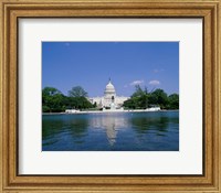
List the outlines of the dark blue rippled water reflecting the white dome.
{"type": "Polygon", "coordinates": [[[43,115],[43,151],[178,151],[179,111],[43,115]]]}

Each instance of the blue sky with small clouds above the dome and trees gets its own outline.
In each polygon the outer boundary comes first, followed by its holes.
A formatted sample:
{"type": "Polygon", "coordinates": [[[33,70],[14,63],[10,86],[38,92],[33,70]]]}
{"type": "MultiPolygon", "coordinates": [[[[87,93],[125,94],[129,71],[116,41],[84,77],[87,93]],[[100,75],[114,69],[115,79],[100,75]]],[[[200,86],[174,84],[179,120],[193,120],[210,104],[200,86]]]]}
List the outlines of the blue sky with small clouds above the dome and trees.
{"type": "Polygon", "coordinates": [[[42,42],[42,87],[103,96],[109,77],[118,96],[136,84],[179,94],[179,42],[42,42]]]}

